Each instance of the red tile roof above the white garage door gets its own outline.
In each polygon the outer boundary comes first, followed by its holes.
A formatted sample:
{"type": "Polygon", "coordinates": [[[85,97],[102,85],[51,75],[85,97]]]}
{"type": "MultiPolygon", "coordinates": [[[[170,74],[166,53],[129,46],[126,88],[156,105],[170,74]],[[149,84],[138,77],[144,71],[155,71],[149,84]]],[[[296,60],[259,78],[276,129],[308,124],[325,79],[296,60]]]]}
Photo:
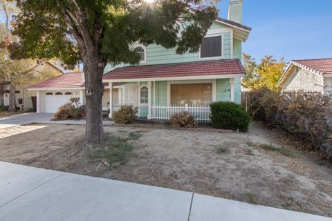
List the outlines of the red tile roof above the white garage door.
{"type": "Polygon", "coordinates": [[[82,72],[65,73],[53,77],[39,84],[34,84],[28,89],[39,88],[84,88],[84,77],[82,72]]]}

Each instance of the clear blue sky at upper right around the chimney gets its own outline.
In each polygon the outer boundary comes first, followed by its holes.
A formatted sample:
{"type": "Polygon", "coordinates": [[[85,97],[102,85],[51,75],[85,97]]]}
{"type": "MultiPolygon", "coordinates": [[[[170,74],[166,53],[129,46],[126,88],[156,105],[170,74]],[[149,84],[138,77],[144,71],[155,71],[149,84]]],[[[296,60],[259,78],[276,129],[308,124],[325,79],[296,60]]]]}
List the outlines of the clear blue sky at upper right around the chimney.
{"type": "MultiPolygon", "coordinates": [[[[219,10],[227,19],[228,0],[219,10]]],[[[242,52],[257,61],[332,57],[332,0],[243,0],[243,24],[252,32],[242,52]]]]}

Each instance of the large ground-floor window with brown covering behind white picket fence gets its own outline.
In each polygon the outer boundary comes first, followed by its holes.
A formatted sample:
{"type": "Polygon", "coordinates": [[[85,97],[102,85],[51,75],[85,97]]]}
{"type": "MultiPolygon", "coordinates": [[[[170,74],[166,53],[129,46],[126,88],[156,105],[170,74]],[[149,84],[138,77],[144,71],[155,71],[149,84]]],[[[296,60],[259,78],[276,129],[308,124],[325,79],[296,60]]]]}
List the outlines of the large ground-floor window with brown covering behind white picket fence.
{"type": "Polygon", "coordinates": [[[212,83],[171,84],[171,104],[210,104],[212,83]]]}

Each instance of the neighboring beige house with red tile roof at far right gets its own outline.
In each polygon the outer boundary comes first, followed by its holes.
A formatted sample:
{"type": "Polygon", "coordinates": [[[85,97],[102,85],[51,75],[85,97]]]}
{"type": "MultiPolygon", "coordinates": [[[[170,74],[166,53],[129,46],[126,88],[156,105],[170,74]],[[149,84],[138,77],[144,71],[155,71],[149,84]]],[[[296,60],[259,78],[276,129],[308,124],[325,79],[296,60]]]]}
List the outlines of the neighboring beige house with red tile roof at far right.
{"type": "Polygon", "coordinates": [[[332,92],[332,59],[293,60],[279,79],[282,91],[332,92]]]}

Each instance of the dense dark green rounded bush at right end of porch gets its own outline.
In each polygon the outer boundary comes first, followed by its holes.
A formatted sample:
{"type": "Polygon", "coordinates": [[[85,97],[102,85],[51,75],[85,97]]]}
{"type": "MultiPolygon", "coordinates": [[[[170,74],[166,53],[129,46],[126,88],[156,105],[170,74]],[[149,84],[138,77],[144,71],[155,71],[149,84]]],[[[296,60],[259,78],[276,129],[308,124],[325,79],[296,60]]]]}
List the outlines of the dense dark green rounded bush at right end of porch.
{"type": "Polygon", "coordinates": [[[213,102],[210,108],[210,119],[215,128],[248,131],[251,117],[239,104],[213,102]]]}

